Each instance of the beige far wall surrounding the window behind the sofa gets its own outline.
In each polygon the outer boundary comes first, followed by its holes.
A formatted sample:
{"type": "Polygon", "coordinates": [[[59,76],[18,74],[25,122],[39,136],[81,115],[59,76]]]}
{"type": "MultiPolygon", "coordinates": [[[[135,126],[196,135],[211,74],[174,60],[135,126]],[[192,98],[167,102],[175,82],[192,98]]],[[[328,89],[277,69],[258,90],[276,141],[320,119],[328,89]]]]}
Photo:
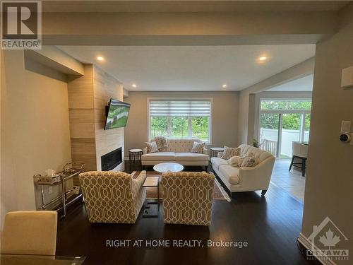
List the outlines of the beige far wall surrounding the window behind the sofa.
{"type": "Polygon", "coordinates": [[[237,92],[129,92],[125,102],[131,103],[128,123],[124,131],[125,151],[145,147],[148,140],[148,98],[213,98],[212,145],[236,146],[238,123],[237,92]]]}

